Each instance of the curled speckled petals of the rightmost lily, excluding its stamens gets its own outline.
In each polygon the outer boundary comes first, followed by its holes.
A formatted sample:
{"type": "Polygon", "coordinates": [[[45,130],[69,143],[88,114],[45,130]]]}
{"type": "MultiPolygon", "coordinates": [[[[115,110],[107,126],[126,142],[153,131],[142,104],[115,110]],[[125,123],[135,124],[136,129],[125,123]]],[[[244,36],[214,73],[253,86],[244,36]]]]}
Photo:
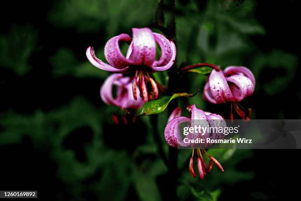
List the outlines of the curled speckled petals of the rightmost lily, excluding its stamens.
{"type": "Polygon", "coordinates": [[[228,66],[224,71],[211,71],[203,95],[213,104],[240,102],[252,95],[254,88],[255,78],[248,68],[228,66]]]}

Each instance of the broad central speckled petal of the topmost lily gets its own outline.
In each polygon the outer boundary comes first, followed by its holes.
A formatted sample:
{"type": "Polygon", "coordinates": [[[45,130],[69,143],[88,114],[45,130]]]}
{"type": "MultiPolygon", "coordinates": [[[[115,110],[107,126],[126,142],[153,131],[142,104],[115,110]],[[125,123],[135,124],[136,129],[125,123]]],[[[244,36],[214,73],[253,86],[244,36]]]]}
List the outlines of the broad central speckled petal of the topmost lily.
{"type": "Polygon", "coordinates": [[[134,65],[151,67],[156,56],[156,43],[149,28],[133,28],[132,52],[130,59],[134,65]]]}

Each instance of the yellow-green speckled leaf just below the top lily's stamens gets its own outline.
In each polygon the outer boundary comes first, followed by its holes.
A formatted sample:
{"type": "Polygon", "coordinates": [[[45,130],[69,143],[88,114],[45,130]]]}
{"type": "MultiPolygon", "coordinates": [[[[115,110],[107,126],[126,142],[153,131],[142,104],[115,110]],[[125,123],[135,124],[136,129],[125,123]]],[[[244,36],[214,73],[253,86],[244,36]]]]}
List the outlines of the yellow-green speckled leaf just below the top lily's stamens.
{"type": "Polygon", "coordinates": [[[138,116],[155,115],[162,113],[168,106],[169,102],[173,99],[178,97],[192,97],[194,95],[195,94],[175,93],[172,96],[164,96],[161,99],[147,102],[142,107],[142,111],[138,114],[138,116]]]}

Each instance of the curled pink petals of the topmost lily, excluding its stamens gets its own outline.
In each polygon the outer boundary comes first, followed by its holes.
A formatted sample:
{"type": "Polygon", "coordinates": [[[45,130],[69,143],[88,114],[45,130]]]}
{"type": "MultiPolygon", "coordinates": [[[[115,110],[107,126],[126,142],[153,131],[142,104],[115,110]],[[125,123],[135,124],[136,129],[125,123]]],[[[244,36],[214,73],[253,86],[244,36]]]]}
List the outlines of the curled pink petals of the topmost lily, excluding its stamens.
{"type": "Polygon", "coordinates": [[[109,64],[98,59],[90,46],[86,55],[89,61],[102,70],[127,73],[145,66],[150,72],[169,69],[175,62],[176,46],[172,40],[152,32],[149,28],[133,28],[133,39],[125,33],[114,36],[105,45],[104,53],[109,64]],[[130,42],[126,57],[120,51],[119,42],[130,42]],[[161,57],[156,60],[156,43],[161,49],[161,57]],[[136,67],[135,67],[136,66],[136,67]]]}

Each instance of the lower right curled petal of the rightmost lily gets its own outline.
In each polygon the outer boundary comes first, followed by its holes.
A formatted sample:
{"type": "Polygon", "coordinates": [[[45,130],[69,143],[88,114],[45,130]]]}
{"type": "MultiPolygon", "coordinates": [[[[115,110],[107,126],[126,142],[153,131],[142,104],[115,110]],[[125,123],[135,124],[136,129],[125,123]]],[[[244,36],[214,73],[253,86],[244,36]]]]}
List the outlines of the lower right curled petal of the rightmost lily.
{"type": "Polygon", "coordinates": [[[253,94],[254,92],[253,83],[246,76],[232,75],[226,79],[229,83],[231,83],[230,89],[236,101],[241,101],[246,96],[253,94]]]}

